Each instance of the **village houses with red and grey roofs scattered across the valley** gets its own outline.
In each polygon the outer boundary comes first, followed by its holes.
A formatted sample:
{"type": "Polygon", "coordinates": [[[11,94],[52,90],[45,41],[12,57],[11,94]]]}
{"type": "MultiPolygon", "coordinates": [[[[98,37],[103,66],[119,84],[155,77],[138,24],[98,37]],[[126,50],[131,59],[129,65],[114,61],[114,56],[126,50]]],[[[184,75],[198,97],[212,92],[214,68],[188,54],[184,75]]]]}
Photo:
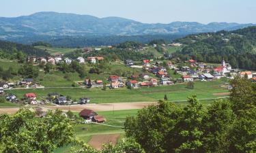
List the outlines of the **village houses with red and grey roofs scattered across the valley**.
{"type": "MultiPolygon", "coordinates": [[[[90,56],[86,59],[79,57],[76,59],[64,58],[62,60],[61,54],[55,55],[55,57],[48,58],[35,58],[29,56],[27,58],[28,63],[33,63],[33,65],[45,65],[46,63],[51,63],[51,65],[57,65],[58,63],[66,63],[70,65],[72,61],[77,61],[79,64],[96,65],[100,61],[104,61],[102,56],[90,56]]],[[[256,73],[251,71],[241,71],[240,69],[232,69],[229,63],[225,60],[219,65],[207,65],[205,63],[197,63],[193,59],[188,61],[182,61],[182,66],[180,63],[173,64],[172,61],[154,61],[145,59],[141,61],[140,65],[138,62],[134,62],[130,59],[124,61],[126,67],[139,68],[141,73],[137,75],[130,75],[128,77],[123,77],[119,75],[109,75],[106,80],[91,80],[86,78],[84,82],[78,83],[78,88],[128,88],[136,89],[143,87],[154,87],[154,86],[172,86],[174,84],[184,84],[201,81],[209,82],[212,80],[221,80],[222,78],[233,79],[236,76],[245,77],[249,80],[256,81],[256,73]],[[171,73],[179,75],[180,78],[172,78],[171,73]],[[104,83],[107,82],[107,83],[104,83]]],[[[192,85],[193,86],[193,85],[192,85]]],[[[90,102],[89,95],[85,97],[80,97],[78,100],[73,101],[68,95],[59,95],[57,92],[48,93],[44,97],[37,99],[37,95],[33,92],[25,93],[24,97],[17,99],[16,95],[4,93],[5,90],[13,89],[29,89],[29,88],[44,88],[39,82],[33,80],[33,78],[25,78],[17,82],[0,82],[0,94],[5,95],[6,100],[23,103],[23,104],[45,104],[53,103],[55,105],[76,105],[76,104],[87,104],[90,102]]],[[[227,86],[230,89],[229,86],[227,86]]],[[[115,91],[113,91],[115,92],[115,91]]]]}

